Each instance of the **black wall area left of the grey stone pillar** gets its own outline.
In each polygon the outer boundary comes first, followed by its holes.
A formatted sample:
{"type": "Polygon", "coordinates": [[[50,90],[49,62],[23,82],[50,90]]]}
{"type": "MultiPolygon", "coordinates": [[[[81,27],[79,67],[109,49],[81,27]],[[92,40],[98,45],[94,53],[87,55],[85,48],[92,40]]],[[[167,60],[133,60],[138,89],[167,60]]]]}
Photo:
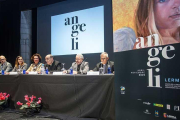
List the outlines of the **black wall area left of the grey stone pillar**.
{"type": "Polygon", "coordinates": [[[0,55],[14,63],[20,52],[19,1],[0,1],[0,55]]]}

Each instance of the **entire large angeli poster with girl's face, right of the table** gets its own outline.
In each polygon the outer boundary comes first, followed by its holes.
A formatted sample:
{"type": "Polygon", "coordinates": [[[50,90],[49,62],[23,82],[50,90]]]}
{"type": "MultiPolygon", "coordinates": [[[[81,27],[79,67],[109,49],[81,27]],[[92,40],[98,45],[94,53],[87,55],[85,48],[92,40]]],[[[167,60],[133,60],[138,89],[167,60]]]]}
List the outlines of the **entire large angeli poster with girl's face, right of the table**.
{"type": "Polygon", "coordinates": [[[180,119],[179,6],[113,0],[116,120],[180,119]]]}

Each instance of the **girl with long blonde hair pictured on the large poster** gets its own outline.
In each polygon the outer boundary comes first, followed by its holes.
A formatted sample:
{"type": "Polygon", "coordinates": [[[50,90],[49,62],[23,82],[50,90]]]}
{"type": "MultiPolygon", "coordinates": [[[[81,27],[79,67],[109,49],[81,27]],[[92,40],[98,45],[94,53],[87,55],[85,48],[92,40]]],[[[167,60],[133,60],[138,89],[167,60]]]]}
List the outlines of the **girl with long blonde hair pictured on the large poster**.
{"type": "MultiPolygon", "coordinates": [[[[179,43],[180,0],[139,0],[135,24],[137,37],[145,38],[145,47],[150,47],[146,37],[153,34],[159,36],[159,45],[179,43]]],[[[151,43],[155,45],[154,37],[151,43]]]]}

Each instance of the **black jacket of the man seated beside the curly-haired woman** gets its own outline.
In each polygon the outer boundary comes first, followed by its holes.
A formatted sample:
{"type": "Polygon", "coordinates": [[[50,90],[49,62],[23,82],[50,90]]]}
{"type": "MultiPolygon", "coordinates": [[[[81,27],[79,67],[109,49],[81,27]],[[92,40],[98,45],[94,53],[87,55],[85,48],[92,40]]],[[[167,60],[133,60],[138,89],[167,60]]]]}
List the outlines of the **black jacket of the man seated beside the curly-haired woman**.
{"type": "Polygon", "coordinates": [[[45,67],[45,69],[46,69],[46,67],[48,67],[48,71],[50,71],[50,72],[61,71],[61,63],[56,60],[54,60],[52,65],[45,64],[44,67],[45,67]]]}

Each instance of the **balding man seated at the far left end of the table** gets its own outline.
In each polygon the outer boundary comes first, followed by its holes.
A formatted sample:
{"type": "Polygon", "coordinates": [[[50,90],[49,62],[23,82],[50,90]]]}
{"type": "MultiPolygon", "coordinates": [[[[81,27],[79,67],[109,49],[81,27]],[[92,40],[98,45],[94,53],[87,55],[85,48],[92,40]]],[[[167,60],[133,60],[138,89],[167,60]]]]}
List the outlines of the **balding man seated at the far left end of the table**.
{"type": "Polygon", "coordinates": [[[4,70],[4,72],[10,72],[13,69],[11,63],[7,62],[5,56],[3,55],[0,56],[0,59],[1,59],[0,73],[2,69],[4,70]]]}

